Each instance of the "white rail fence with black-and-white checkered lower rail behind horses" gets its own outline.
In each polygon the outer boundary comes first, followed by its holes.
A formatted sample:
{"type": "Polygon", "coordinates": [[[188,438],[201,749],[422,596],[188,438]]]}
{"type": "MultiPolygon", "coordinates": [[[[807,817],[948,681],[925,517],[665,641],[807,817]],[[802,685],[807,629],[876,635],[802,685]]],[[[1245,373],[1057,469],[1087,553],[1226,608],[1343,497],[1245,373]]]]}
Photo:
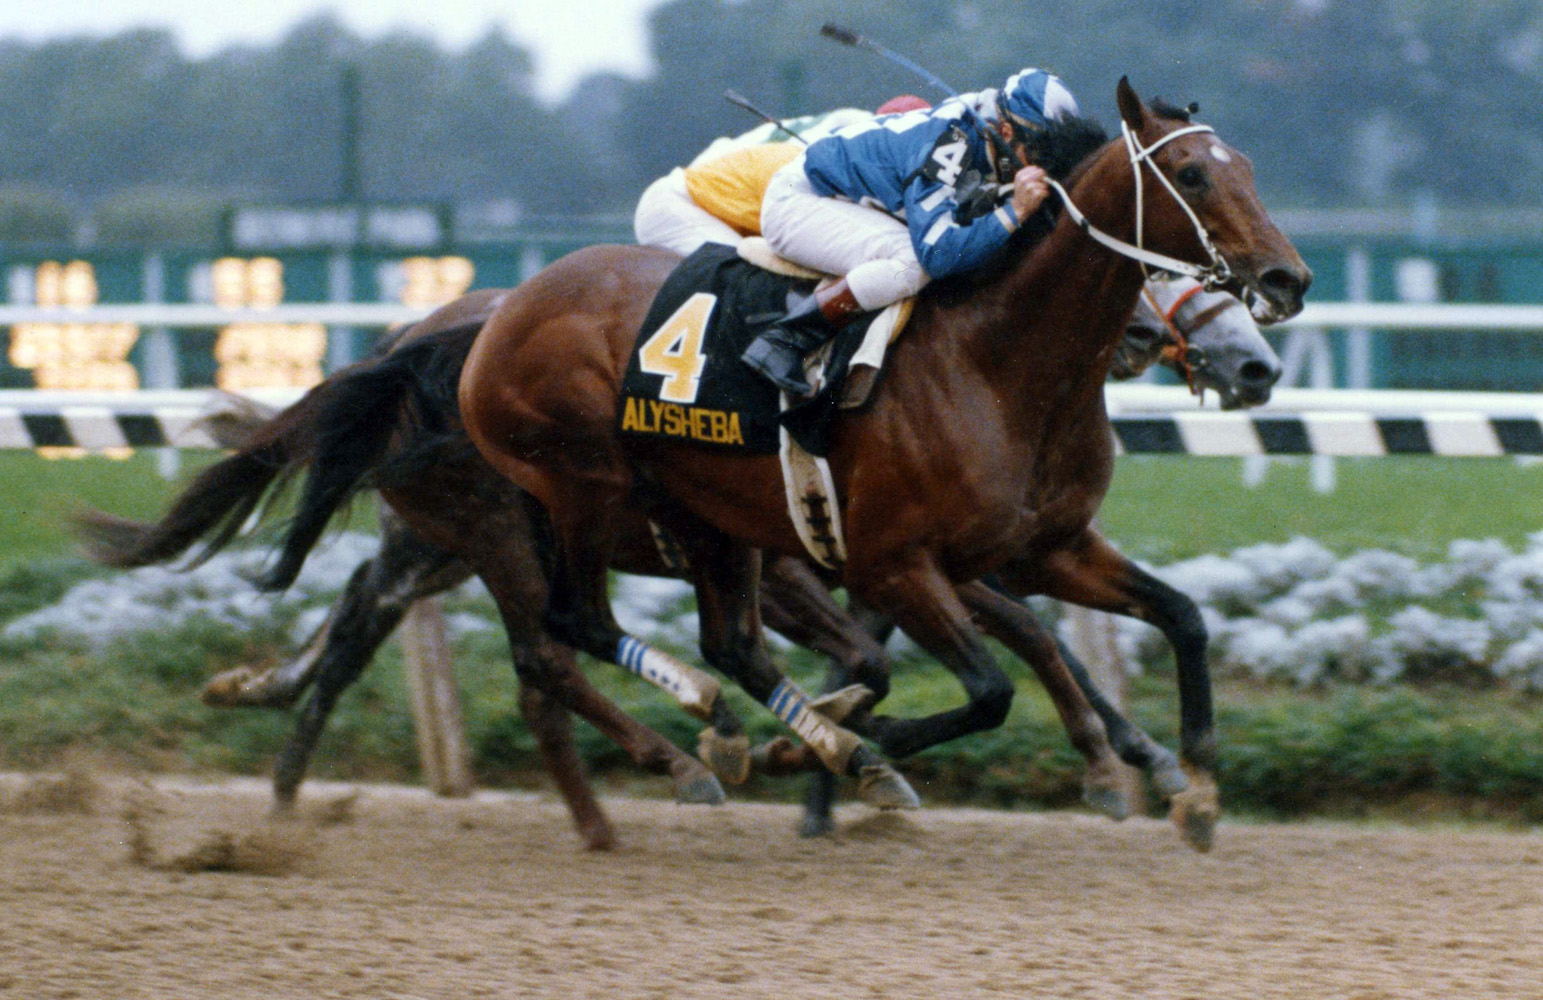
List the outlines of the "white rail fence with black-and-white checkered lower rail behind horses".
{"type": "MultiPolygon", "coordinates": [[[[0,327],[19,323],[131,323],[160,336],[179,327],[235,323],[384,327],[412,323],[423,315],[423,309],[407,306],[346,302],[273,309],[0,306],[0,327]]],[[[1356,333],[1370,329],[1543,332],[1543,306],[1322,302],[1308,306],[1285,326],[1291,332],[1285,353],[1288,360],[1295,356],[1296,367],[1302,369],[1302,360],[1318,350],[1315,344],[1329,329],[1356,333]]],[[[1126,454],[1242,457],[1543,454],[1543,424],[1538,423],[1543,398],[1534,394],[1332,389],[1325,384],[1325,367],[1313,363],[1307,369],[1316,372],[1313,389],[1278,389],[1268,406],[1247,414],[1202,409],[1173,387],[1111,387],[1109,409],[1120,449],[1126,454]]],[[[1293,378],[1287,384],[1299,373],[1288,372],[1293,378]]],[[[165,378],[150,381],[165,386],[165,378]]],[[[293,398],[284,390],[253,395],[276,403],[293,398]]],[[[168,387],[128,394],[8,390],[0,392],[0,448],[207,448],[213,441],[191,424],[210,406],[208,390],[168,387]]]]}

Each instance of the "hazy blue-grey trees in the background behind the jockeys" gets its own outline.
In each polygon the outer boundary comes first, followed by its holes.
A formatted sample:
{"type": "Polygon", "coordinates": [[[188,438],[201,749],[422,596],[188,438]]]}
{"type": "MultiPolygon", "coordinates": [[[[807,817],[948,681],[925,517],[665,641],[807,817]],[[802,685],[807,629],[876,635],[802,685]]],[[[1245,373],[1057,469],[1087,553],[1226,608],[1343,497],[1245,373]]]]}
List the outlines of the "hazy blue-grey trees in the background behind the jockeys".
{"type": "Polygon", "coordinates": [[[497,31],[446,51],[321,15],[272,46],[202,60],[164,31],[5,42],[0,188],[77,210],[179,188],[333,199],[339,80],[353,66],[364,196],[626,213],[653,177],[755,123],[725,88],[778,114],[938,97],[819,39],[827,19],[960,90],[1046,66],[1105,123],[1122,74],[1143,94],[1197,100],[1275,205],[1535,205],[1543,191],[1538,0],[671,0],[650,22],[648,79],[591,76],[559,108],[537,100],[529,52],[497,31]]]}

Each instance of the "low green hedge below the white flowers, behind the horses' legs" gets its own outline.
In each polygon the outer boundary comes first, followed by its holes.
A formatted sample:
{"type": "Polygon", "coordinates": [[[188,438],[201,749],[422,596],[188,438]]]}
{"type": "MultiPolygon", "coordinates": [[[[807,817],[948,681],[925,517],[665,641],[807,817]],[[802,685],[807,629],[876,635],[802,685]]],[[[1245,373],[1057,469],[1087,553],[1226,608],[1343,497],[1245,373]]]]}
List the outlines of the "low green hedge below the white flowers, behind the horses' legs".
{"type": "MultiPolygon", "coordinates": [[[[15,577],[12,576],[11,580],[15,577]]],[[[9,580],[8,580],[9,582],[9,580]]],[[[66,644],[0,640],[0,767],[46,769],[69,759],[165,770],[267,773],[290,713],[216,710],[198,702],[214,671],[273,662],[284,636],[190,625],[91,653],[66,644]]],[[[816,684],[818,664],[798,654],[796,673],[816,684]]],[[[515,711],[501,637],[457,642],[468,739],[483,782],[539,785],[534,741],[515,711]]],[[[1017,668],[1014,668],[1017,670],[1017,668]]],[[[699,724],[663,694],[611,667],[589,667],[602,690],[682,747],[699,724]]],[[[733,694],[756,739],[781,731],[764,710],[733,694]]],[[[906,667],[890,711],[913,715],[960,704],[958,685],[937,668],[906,667]]],[[[1142,677],[1133,713],[1176,744],[1177,698],[1168,677],[1142,677]]],[[[1543,821],[1543,713],[1534,699],[1501,691],[1342,688],[1302,693],[1258,684],[1219,687],[1224,802],[1233,815],[1478,816],[1543,821]]],[[[667,793],[588,725],[580,748],[606,782],[667,793]]],[[[906,762],[929,802],[1062,807],[1080,796],[1082,759],[1032,682],[1025,679],[1008,724],[906,762]]],[[[387,647],[344,696],[315,776],[415,779],[417,750],[401,674],[387,647]]],[[[799,782],[755,781],[739,796],[792,801],[799,782]]]]}

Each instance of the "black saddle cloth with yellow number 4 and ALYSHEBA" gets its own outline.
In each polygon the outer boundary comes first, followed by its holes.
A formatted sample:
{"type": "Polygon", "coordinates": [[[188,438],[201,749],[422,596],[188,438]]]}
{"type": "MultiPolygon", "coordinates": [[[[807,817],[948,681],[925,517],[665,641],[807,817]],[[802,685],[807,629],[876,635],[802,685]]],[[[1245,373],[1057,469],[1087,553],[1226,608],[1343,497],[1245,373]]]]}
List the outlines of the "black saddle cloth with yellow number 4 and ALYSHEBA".
{"type": "Polygon", "coordinates": [[[787,427],[809,454],[827,454],[836,412],[853,404],[842,400],[853,356],[861,350],[861,360],[876,369],[889,329],[900,323],[881,312],[873,323],[883,319],[884,327],[855,323],[841,330],[829,344],[822,383],[812,383],[818,392],[784,410],[778,387],[739,355],[787,313],[790,296],[805,296],[813,285],[813,279],[758,267],[721,244],[705,244],[682,261],[648,309],[628,360],[622,434],[776,454],[778,429],[787,427]],[[876,344],[864,344],[869,329],[876,344]]]}

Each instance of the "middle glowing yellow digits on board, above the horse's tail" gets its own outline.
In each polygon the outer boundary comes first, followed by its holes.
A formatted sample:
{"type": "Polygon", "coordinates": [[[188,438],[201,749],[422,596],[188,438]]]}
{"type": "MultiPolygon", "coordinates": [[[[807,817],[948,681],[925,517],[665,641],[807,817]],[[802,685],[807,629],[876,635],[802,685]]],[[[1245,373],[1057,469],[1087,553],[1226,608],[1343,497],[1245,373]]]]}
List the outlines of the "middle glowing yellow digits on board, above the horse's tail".
{"type": "MultiPolygon", "coordinates": [[[[284,264],[275,258],[221,258],[211,269],[214,304],[273,309],[284,301],[284,264]]],[[[233,323],[219,330],[214,383],[221,389],[307,389],[321,381],[327,329],[319,323],[233,323]]]]}

